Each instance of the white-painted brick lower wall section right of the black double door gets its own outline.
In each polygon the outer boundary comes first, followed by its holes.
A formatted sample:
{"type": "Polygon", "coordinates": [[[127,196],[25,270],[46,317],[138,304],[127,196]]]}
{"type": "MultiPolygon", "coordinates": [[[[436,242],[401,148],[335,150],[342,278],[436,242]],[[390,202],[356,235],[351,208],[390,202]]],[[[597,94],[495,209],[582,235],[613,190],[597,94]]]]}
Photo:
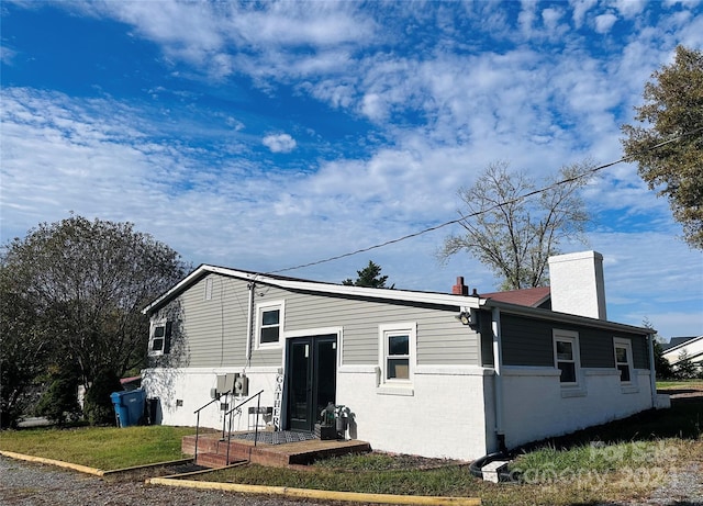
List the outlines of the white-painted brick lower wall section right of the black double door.
{"type": "Polygon", "coordinates": [[[492,409],[492,371],[419,367],[413,395],[393,394],[377,384],[373,369],[339,369],[337,402],[355,414],[350,437],[371,442],[376,450],[464,460],[494,448],[493,427],[486,417],[492,409]]]}

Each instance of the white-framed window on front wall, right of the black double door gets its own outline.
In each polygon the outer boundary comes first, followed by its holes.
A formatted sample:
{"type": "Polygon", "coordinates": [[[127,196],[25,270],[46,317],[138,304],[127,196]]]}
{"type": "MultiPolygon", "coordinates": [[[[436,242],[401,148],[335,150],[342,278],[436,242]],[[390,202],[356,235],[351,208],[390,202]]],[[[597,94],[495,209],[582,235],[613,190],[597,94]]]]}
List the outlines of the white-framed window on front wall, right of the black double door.
{"type": "Polygon", "coordinates": [[[410,384],[415,364],[416,324],[381,325],[379,358],[386,384],[410,384]]]}

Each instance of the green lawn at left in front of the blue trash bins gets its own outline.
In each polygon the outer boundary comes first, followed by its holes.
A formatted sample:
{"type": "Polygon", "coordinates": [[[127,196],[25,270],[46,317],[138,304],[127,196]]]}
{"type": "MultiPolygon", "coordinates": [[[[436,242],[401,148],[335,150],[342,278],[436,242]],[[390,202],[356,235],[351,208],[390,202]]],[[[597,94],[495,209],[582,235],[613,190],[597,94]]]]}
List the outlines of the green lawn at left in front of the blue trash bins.
{"type": "Polygon", "coordinates": [[[0,450],[115,470],[186,458],[181,438],[192,434],[166,426],[4,430],[0,450]]]}

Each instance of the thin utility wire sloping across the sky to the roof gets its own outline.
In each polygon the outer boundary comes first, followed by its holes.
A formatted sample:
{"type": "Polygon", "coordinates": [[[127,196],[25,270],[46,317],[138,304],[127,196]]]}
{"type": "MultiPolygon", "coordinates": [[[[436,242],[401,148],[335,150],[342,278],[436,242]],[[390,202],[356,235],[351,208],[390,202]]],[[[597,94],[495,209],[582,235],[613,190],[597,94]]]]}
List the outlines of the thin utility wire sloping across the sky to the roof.
{"type": "MultiPolygon", "coordinates": [[[[659,149],[660,147],[666,146],[667,144],[671,144],[673,142],[680,140],[683,137],[688,137],[690,135],[694,135],[694,134],[696,134],[696,133],[699,133],[701,131],[703,131],[703,126],[701,126],[699,128],[695,128],[695,130],[693,130],[691,132],[685,132],[683,134],[677,135],[676,137],[672,137],[672,138],[670,138],[668,140],[662,140],[661,143],[658,143],[658,144],[656,144],[654,146],[648,147],[647,149],[644,149],[643,151],[640,151],[640,154],[654,151],[655,149],[659,149]]],[[[377,244],[377,245],[373,245],[373,246],[368,246],[366,248],[360,248],[360,249],[357,249],[355,251],[349,251],[349,252],[345,252],[345,254],[341,254],[341,255],[335,255],[334,257],[328,257],[328,258],[325,258],[323,260],[315,260],[315,261],[312,261],[312,262],[309,262],[309,263],[302,263],[302,265],[295,266],[295,267],[287,267],[284,269],[278,269],[278,270],[275,270],[275,271],[269,271],[268,273],[269,274],[276,274],[276,273],[279,273],[279,272],[288,272],[288,271],[292,271],[292,270],[303,269],[305,267],[319,266],[321,263],[327,263],[327,262],[331,262],[331,261],[334,261],[334,260],[339,260],[342,258],[353,257],[355,255],[359,255],[359,254],[362,254],[362,252],[372,251],[373,249],[383,248],[383,247],[390,246],[392,244],[402,243],[403,240],[412,239],[413,237],[417,237],[417,236],[421,236],[423,234],[427,234],[429,232],[435,232],[435,230],[438,230],[439,228],[444,228],[444,227],[449,226],[449,225],[459,224],[459,223],[466,221],[467,218],[470,218],[470,217],[473,217],[473,216],[478,216],[480,214],[488,213],[490,211],[493,211],[494,209],[502,207],[503,205],[513,204],[515,202],[520,202],[521,200],[527,199],[529,196],[533,196],[533,195],[536,195],[536,194],[539,194],[539,193],[544,193],[545,191],[551,190],[551,189],[557,188],[557,187],[559,187],[561,184],[567,184],[567,183],[577,181],[579,179],[583,179],[585,177],[590,177],[590,176],[594,175],[595,172],[600,172],[601,170],[607,169],[609,167],[613,167],[613,166],[615,166],[617,164],[622,164],[624,161],[629,161],[634,157],[635,157],[635,155],[624,156],[618,160],[611,161],[609,164],[603,164],[603,165],[600,165],[598,167],[593,167],[592,169],[589,169],[589,170],[587,170],[587,171],[584,171],[582,173],[579,173],[577,176],[573,176],[571,178],[561,179],[561,180],[559,180],[559,181],[557,181],[557,182],[555,182],[553,184],[549,184],[547,187],[540,188],[538,190],[534,190],[534,191],[527,192],[527,193],[525,193],[523,195],[518,195],[518,196],[516,196],[514,199],[511,199],[511,200],[507,200],[505,202],[500,202],[500,203],[494,204],[494,205],[492,205],[492,206],[490,206],[488,209],[476,211],[473,213],[462,215],[461,217],[458,217],[456,220],[450,220],[448,222],[440,223],[439,225],[431,226],[428,228],[424,228],[422,230],[414,232],[412,234],[408,234],[408,235],[404,235],[402,237],[398,237],[395,239],[387,240],[386,243],[380,243],[380,244],[377,244]]]]}

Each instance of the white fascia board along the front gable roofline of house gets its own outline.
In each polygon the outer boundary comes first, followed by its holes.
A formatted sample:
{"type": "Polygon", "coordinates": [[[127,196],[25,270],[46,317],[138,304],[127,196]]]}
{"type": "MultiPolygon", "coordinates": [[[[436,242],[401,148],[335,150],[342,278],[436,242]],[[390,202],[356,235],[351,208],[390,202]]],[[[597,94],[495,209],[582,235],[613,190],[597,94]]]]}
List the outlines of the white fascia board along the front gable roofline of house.
{"type": "Polygon", "coordinates": [[[447,306],[455,306],[459,311],[478,310],[486,303],[484,299],[468,295],[453,295],[450,293],[434,293],[434,292],[411,292],[406,290],[391,290],[391,289],[373,289],[365,286],[348,286],[344,284],[324,283],[316,281],[305,281],[297,279],[279,279],[269,277],[257,272],[239,271],[235,269],[227,269],[224,267],[215,267],[202,265],[198,267],[193,272],[188,274],[182,281],[171,288],[168,292],[152,302],[148,306],[142,310],[143,314],[149,314],[155,308],[160,307],[165,302],[174,297],[176,294],[186,290],[190,284],[196,282],[207,272],[213,272],[216,274],[226,276],[230,278],[238,278],[256,283],[269,284],[272,286],[279,286],[289,290],[299,290],[316,293],[330,293],[334,295],[352,295],[364,296],[376,300],[386,301],[400,301],[400,302],[420,302],[425,304],[439,304],[447,306]]]}

